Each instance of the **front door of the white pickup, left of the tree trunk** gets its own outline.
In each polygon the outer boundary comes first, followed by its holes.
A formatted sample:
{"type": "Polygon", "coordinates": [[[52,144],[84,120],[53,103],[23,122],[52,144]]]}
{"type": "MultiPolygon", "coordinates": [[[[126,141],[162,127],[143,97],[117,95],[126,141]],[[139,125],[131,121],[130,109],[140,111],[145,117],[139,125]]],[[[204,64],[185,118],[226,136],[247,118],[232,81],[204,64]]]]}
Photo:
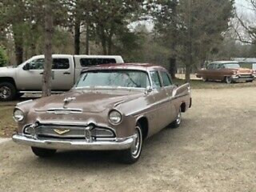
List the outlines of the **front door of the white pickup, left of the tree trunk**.
{"type": "Polygon", "coordinates": [[[42,90],[44,58],[34,58],[21,66],[16,74],[19,90],[42,90]]]}

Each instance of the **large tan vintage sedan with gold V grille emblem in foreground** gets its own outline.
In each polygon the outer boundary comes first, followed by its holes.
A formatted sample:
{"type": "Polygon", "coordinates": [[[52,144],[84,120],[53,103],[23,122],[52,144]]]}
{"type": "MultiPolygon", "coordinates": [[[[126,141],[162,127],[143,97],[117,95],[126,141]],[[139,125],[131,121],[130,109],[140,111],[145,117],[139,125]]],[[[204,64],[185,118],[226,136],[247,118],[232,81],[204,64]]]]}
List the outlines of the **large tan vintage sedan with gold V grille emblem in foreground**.
{"type": "Polygon", "coordinates": [[[39,157],[59,149],[120,150],[122,161],[133,163],[142,141],[178,127],[190,106],[190,85],[174,86],[161,66],[93,66],[65,94],[18,103],[13,140],[39,157]]]}

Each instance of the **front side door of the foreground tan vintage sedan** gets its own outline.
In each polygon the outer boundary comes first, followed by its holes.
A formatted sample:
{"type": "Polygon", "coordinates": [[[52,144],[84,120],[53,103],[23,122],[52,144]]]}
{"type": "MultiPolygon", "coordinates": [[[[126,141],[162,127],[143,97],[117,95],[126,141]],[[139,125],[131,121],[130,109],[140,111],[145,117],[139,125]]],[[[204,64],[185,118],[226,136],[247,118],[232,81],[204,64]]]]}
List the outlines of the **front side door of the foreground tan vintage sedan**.
{"type": "Polygon", "coordinates": [[[169,106],[166,105],[168,102],[168,93],[165,90],[165,87],[162,86],[161,78],[158,73],[158,70],[150,71],[150,78],[152,81],[152,88],[153,88],[153,96],[154,96],[154,105],[152,106],[154,113],[154,118],[156,124],[155,126],[150,129],[150,134],[155,134],[162,128],[168,125],[168,118],[170,118],[169,106]]]}

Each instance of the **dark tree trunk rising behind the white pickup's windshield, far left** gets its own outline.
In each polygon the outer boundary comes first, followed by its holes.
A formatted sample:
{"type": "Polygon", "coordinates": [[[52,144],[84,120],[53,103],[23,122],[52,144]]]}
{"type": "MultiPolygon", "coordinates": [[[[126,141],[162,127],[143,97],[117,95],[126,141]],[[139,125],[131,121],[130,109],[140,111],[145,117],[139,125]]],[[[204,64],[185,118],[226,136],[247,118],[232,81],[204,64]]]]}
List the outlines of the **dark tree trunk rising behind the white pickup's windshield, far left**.
{"type": "Polygon", "coordinates": [[[18,66],[23,62],[23,33],[19,26],[13,25],[14,32],[14,49],[16,65],[18,66]]]}

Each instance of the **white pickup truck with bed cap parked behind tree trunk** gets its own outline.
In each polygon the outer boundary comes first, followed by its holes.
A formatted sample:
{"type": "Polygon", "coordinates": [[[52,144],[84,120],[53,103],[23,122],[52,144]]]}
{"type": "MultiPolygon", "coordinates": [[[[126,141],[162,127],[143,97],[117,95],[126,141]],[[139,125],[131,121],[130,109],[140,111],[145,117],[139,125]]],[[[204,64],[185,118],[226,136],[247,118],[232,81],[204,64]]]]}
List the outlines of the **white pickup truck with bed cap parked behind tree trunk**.
{"type": "MultiPolygon", "coordinates": [[[[53,54],[52,90],[70,90],[83,68],[107,63],[123,63],[115,55],[53,54]]],[[[10,101],[25,93],[42,91],[44,55],[37,55],[14,67],[0,67],[0,101],[10,101]]]]}

